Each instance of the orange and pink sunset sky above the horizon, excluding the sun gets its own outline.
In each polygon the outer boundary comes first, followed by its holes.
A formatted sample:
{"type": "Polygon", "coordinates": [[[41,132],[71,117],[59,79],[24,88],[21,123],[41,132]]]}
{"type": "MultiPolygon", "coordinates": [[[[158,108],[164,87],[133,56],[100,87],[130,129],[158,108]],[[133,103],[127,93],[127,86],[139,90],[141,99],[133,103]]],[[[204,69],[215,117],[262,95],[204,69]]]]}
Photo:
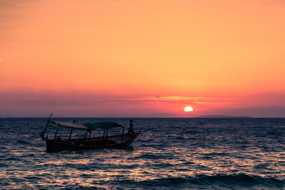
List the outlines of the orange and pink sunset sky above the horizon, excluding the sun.
{"type": "Polygon", "coordinates": [[[285,117],[285,1],[0,0],[0,115],[285,117]]]}

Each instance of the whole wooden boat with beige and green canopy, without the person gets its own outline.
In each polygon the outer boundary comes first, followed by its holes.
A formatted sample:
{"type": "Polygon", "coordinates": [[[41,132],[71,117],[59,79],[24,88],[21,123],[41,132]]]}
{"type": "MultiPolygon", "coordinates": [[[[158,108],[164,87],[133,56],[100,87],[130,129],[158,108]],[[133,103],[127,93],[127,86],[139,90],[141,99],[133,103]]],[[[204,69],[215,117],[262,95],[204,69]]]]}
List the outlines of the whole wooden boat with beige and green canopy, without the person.
{"type": "Polygon", "coordinates": [[[97,122],[97,123],[68,123],[57,122],[48,120],[44,131],[40,134],[43,140],[46,140],[47,151],[62,151],[62,150],[98,150],[98,149],[119,149],[129,146],[140,134],[141,131],[132,134],[124,134],[124,126],[121,126],[115,122],[97,122]],[[44,136],[48,127],[56,128],[54,138],[49,139],[48,135],[44,136]],[[121,127],[123,129],[122,134],[109,135],[108,130],[114,127],[121,127]],[[69,138],[61,138],[57,136],[59,128],[70,128],[69,138]],[[71,138],[72,131],[74,129],[85,130],[85,138],[71,138]],[[103,129],[103,136],[91,137],[91,131],[95,129],[103,129]],[[89,132],[89,137],[87,133],[89,132]]]}

